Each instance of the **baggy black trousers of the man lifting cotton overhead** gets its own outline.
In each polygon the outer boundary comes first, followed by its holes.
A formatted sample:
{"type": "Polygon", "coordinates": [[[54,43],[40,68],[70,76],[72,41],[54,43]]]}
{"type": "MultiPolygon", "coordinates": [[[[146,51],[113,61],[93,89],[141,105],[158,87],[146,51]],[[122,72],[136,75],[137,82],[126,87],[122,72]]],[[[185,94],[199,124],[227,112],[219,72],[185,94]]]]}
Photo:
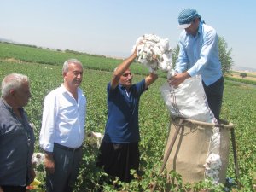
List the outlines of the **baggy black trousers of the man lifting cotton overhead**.
{"type": "Polygon", "coordinates": [[[103,167],[108,175],[119,177],[120,181],[131,182],[130,170],[138,171],[139,167],[138,143],[102,142],[96,165],[103,167]]]}

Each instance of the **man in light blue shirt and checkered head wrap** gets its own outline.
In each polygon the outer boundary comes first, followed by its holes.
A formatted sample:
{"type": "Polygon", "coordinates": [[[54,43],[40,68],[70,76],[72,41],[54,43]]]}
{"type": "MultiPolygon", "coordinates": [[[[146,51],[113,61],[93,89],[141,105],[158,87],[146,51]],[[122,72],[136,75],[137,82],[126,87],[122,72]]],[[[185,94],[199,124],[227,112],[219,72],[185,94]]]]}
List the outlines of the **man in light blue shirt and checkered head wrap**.
{"type": "Polygon", "coordinates": [[[178,23],[184,30],[178,42],[177,73],[169,83],[178,86],[185,79],[200,74],[208,105],[219,119],[224,78],[218,55],[218,35],[212,26],[201,20],[195,9],[183,9],[178,15],[178,23]]]}

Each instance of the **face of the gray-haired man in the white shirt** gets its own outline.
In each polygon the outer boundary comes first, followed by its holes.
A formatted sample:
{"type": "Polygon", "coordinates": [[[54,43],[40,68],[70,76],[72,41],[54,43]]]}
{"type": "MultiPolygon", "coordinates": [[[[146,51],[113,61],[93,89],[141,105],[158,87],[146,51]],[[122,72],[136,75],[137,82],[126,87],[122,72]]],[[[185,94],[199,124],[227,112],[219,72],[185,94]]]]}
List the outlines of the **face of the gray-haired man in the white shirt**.
{"type": "Polygon", "coordinates": [[[63,76],[69,88],[78,88],[83,79],[83,67],[76,63],[70,63],[68,71],[64,72],[63,76]]]}

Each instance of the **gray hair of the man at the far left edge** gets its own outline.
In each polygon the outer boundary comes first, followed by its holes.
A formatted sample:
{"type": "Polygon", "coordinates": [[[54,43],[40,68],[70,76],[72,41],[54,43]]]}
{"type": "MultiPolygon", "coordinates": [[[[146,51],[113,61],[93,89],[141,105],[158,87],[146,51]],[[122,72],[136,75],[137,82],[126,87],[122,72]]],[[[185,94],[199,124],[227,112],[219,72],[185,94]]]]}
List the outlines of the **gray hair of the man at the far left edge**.
{"type": "Polygon", "coordinates": [[[19,73],[11,73],[4,77],[2,81],[1,92],[3,98],[9,96],[10,90],[18,90],[22,84],[29,82],[29,79],[26,75],[19,73]]]}

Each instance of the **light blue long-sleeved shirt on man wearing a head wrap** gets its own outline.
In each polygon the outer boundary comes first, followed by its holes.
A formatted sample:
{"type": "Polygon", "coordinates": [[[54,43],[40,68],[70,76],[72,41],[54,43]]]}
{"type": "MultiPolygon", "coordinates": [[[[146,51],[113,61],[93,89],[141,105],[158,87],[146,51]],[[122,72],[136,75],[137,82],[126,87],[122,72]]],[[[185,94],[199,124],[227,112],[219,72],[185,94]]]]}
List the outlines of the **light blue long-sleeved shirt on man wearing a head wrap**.
{"type": "Polygon", "coordinates": [[[218,35],[212,26],[200,22],[195,37],[183,30],[178,44],[178,73],[188,71],[191,77],[200,74],[207,86],[221,78],[223,74],[218,55],[218,35]]]}

